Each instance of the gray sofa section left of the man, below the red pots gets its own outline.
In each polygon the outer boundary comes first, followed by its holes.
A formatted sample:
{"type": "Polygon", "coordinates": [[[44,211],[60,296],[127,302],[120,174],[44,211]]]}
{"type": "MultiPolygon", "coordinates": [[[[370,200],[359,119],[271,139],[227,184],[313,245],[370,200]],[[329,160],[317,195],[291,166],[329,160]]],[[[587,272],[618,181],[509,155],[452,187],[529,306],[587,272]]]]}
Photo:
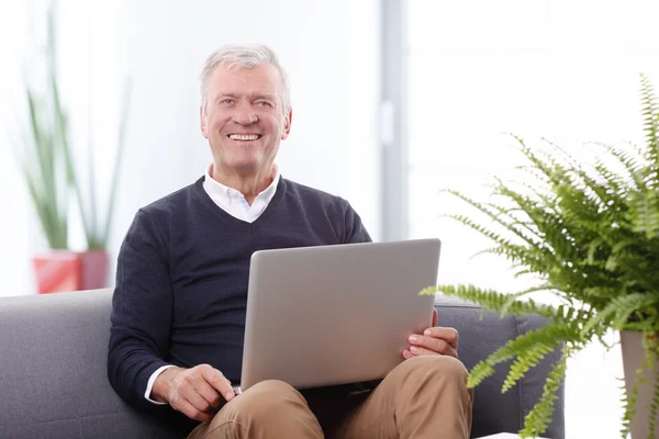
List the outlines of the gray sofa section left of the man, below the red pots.
{"type": "Polygon", "coordinates": [[[112,290],[0,299],[0,438],[174,438],[108,382],[112,290]]]}

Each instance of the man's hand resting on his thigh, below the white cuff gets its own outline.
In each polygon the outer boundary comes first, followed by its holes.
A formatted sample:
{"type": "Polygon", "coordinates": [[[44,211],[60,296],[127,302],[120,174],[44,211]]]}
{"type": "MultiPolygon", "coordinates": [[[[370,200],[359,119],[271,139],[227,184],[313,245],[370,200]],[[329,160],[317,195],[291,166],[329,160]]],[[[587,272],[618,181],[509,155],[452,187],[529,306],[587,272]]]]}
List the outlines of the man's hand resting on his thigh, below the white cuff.
{"type": "Polygon", "coordinates": [[[201,421],[211,420],[211,407],[219,407],[223,397],[231,401],[236,396],[231,382],[222,372],[209,364],[192,369],[169,368],[158,375],[152,390],[152,398],[169,405],[201,421]]]}

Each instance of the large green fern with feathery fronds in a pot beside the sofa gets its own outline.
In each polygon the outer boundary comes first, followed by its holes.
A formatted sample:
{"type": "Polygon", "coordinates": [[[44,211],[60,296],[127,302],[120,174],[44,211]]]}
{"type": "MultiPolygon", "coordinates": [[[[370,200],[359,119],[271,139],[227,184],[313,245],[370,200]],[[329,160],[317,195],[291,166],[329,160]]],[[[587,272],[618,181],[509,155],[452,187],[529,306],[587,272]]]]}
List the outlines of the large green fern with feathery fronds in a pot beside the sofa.
{"type": "Polygon", "coordinates": [[[659,105],[643,75],[640,97],[643,147],[596,145],[602,154],[587,166],[556,145],[543,153],[513,136],[527,161],[517,168],[524,180],[495,179],[490,201],[482,203],[446,191],[484,215],[489,225],[466,215],[447,216],[490,238],[494,246],[484,252],[504,256],[515,275],[536,282],[514,294],[466,284],[440,284],[422,293],[457,296],[502,316],[535,313],[549,319],[546,327],[517,337],[477,364],[468,385],[478,385],[496,364],[512,361],[505,392],[547,352],[562,349],[543,396],[525,418],[520,431],[524,438],[546,430],[567,359],[590,342],[606,345],[611,331],[619,331],[625,370],[621,435],[659,437],[659,105]],[[525,297],[538,291],[551,292],[561,304],[525,297]]]}

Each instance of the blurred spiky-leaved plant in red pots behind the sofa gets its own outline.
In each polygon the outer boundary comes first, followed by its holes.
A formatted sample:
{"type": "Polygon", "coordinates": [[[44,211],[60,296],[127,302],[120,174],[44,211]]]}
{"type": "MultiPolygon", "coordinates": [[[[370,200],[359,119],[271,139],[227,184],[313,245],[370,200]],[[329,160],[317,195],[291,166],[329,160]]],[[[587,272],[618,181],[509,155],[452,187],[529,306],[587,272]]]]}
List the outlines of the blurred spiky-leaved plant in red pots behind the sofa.
{"type": "MultiPolygon", "coordinates": [[[[63,108],[56,64],[54,12],[47,15],[48,30],[45,47],[45,77],[41,88],[25,89],[29,109],[19,161],[41,228],[47,251],[33,257],[40,293],[102,288],[105,284],[107,245],[115,200],[118,175],[124,149],[127,93],[123,102],[119,143],[111,173],[110,196],[104,216],[99,215],[94,192],[94,169],[87,168],[87,196],[82,191],[81,172],[76,166],[68,136],[68,119],[63,108]],[[87,241],[86,251],[69,249],[69,213],[71,202],[77,204],[87,241]]],[[[129,88],[126,87],[126,92],[129,88]]],[[[89,151],[91,154],[91,151],[89,151]]]]}

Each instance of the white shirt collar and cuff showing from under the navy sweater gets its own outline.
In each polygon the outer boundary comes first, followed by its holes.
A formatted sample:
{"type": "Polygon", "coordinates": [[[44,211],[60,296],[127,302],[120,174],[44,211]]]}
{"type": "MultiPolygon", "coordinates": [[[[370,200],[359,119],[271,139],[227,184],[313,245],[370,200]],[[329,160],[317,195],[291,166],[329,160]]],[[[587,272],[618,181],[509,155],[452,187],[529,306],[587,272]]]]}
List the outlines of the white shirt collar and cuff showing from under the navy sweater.
{"type": "MultiPolygon", "coordinates": [[[[242,219],[246,223],[254,223],[266,211],[268,204],[270,204],[270,201],[272,201],[272,196],[275,196],[275,192],[277,192],[277,184],[279,183],[280,178],[279,168],[275,166],[275,178],[272,179],[272,182],[263,192],[256,195],[254,202],[252,205],[249,205],[247,200],[245,200],[245,195],[243,195],[241,191],[213,180],[211,177],[212,167],[213,165],[209,165],[206,168],[205,178],[203,179],[203,190],[209,194],[211,200],[217,204],[219,207],[228,213],[231,216],[242,219]]],[[[166,404],[152,399],[150,393],[154,389],[154,382],[158,375],[163,373],[164,370],[169,368],[174,368],[174,365],[163,365],[148,378],[146,392],[144,393],[146,401],[158,405],[166,404]]]]}

